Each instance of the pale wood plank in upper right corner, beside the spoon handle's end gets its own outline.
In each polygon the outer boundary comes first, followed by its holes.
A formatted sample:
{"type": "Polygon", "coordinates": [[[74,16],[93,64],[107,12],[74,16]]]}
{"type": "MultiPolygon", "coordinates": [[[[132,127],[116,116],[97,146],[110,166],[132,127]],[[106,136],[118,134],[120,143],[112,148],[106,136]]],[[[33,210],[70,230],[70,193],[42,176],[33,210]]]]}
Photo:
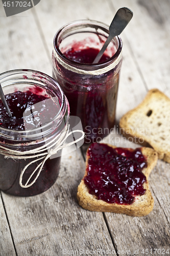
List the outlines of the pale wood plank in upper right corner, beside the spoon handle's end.
{"type": "MultiPolygon", "coordinates": [[[[124,0],[109,0],[113,11],[124,0]]],[[[148,89],[158,88],[170,97],[170,4],[167,0],[127,0],[134,16],[124,31],[132,56],[148,89]]]]}

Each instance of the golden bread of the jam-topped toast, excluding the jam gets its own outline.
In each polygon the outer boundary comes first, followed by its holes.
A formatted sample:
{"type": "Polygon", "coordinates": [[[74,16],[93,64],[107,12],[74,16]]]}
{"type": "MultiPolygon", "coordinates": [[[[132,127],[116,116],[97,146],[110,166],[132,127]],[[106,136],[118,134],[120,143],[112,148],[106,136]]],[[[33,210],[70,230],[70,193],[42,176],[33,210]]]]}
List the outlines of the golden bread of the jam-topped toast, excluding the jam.
{"type": "MultiPolygon", "coordinates": [[[[109,145],[109,144],[108,144],[109,145]]],[[[109,145],[113,148],[115,146],[109,145]]],[[[87,151],[88,152],[88,151],[87,151]]],[[[136,196],[132,204],[110,204],[103,200],[98,200],[95,195],[89,194],[89,188],[84,183],[84,177],[87,175],[88,156],[86,156],[86,171],[83,179],[78,186],[77,199],[79,204],[91,211],[115,212],[117,214],[126,214],[129,216],[145,216],[148,215],[154,206],[154,199],[149,190],[148,177],[151,170],[157,163],[157,153],[148,147],[141,148],[142,154],[147,158],[147,168],[143,168],[142,173],[146,176],[147,182],[143,183],[143,188],[146,189],[144,195],[136,196]]]]}

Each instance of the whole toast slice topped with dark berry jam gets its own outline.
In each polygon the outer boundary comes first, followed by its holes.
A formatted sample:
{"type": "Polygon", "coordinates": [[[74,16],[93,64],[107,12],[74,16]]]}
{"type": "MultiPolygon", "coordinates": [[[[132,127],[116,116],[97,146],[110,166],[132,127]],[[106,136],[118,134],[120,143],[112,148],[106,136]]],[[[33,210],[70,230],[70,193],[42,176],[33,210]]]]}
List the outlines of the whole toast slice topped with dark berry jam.
{"type": "Polygon", "coordinates": [[[115,212],[129,216],[148,215],[154,206],[148,177],[156,165],[157,159],[158,155],[152,148],[141,147],[132,150],[131,148],[117,148],[109,144],[93,143],[87,150],[85,175],[78,186],[77,199],[79,204],[91,211],[115,212]],[[99,146],[103,147],[104,153],[99,153],[99,146]],[[116,152],[114,157],[112,151],[116,152]],[[132,159],[133,157],[126,152],[130,152],[130,154],[134,152],[134,155],[140,158],[139,163],[136,163],[136,158],[132,159]],[[102,154],[101,157],[99,154],[102,154]],[[123,164],[124,162],[126,164],[123,164]],[[136,176],[132,177],[131,172],[136,166],[140,169],[136,170],[136,176]],[[112,171],[113,169],[114,171],[112,171]],[[107,172],[109,177],[106,175],[107,172]],[[126,179],[127,175],[131,178],[126,179]],[[120,177],[120,182],[117,182],[117,177],[120,177]],[[139,182],[140,180],[141,182],[139,182]],[[105,181],[104,184],[102,184],[103,181],[105,181]],[[132,195],[127,196],[129,191],[134,189],[134,181],[138,193],[132,191],[132,195]],[[125,193],[125,184],[128,182],[129,187],[126,188],[128,191],[125,193]],[[93,184],[95,185],[93,186],[93,184]],[[102,187],[99,184],[102,184],[102,187]],[[108,191],[106,187],[109,187],[108,191]],[[112,189],[114,190],[113,195],[110,193],[112,189]]]}

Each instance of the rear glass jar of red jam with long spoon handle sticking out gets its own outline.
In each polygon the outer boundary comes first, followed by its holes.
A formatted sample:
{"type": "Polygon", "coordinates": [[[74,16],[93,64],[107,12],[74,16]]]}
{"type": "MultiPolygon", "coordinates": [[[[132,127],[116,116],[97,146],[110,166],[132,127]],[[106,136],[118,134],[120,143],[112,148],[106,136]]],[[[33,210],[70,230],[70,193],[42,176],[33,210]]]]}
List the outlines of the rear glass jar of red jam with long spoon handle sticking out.
{"type": "Polygon", "coordinates": [[[89,63],[84,63],[83,59],[92,55],[94,59],[108,35],[109,26],[103,23],[77,20],[54,37],[53,77],[68,99],[70,114],[81,119],[85,143],[100,142],[115,122],[122,40],[114,37],[99,63],[88,58],[89,63]]]}

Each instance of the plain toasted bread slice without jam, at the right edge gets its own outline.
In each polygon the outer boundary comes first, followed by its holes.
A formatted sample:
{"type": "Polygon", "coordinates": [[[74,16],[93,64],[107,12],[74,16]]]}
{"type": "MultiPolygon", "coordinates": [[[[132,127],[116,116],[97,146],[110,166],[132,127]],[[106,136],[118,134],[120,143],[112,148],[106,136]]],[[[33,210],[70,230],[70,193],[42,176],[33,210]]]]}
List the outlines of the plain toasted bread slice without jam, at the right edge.
{"type": "Polygon", "coordinates": [[[170,99],[158,89],[150,90],[137,108],[120,119],[119,126],[123,135],[152,146],[159,159],[170,163],[170,99]]]}

